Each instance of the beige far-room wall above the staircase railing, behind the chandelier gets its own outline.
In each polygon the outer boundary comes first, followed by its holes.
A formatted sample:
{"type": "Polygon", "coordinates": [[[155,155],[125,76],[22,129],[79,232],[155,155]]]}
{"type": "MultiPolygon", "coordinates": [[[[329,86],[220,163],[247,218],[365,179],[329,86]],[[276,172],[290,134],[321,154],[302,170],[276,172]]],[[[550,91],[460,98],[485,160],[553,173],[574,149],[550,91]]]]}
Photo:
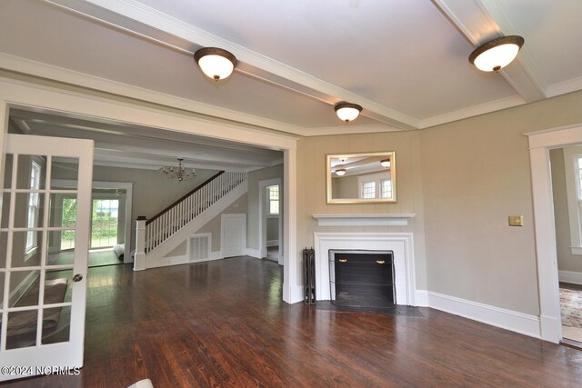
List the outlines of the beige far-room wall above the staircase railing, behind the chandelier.
{"type": "MultiPolygon", "coordinates": [[[[55,168],[53,178],[75,179],[72,172],[66,168],[55,168]]],[[[131,249],[135,249],[135,219],[139,215],[151,217],[176,199],[202,184],[210,176],[216,174],[214,170],[196,169],[196,178],[191,182],[178,182],[166,179],[164,174],[157,170],[142,170],[135,168],[119,168],[95,165],[93,180],[104,182],[125,182],[133,184],[131,220],[131,249]]]]}

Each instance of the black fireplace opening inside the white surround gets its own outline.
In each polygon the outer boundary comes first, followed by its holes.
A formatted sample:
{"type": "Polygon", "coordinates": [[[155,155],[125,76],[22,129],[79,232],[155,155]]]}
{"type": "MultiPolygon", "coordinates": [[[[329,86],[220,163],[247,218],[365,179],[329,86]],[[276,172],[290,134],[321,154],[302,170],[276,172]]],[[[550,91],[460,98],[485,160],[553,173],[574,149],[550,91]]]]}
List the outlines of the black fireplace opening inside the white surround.
{"type": "Polygon", "coordinates": [[[329,282],[336,305],[394,307],[394,252],[329,250],[329,282]]]}

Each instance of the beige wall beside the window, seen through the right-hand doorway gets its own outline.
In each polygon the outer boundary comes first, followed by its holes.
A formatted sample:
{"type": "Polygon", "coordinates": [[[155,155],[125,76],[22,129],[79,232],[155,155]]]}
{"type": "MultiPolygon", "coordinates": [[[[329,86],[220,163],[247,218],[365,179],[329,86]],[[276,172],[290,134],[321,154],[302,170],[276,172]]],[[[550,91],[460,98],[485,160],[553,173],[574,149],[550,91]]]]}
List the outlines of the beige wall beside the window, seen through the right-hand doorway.
{"type": "Polygon", "coordinates": [[[570,221],[567,209],[564,149],[549,152],[552,165],[552,191],[554,194],[554,220],[556,224],[557,268],[561,271],[582,273],[582,256],[570,249],[570,221]]]}

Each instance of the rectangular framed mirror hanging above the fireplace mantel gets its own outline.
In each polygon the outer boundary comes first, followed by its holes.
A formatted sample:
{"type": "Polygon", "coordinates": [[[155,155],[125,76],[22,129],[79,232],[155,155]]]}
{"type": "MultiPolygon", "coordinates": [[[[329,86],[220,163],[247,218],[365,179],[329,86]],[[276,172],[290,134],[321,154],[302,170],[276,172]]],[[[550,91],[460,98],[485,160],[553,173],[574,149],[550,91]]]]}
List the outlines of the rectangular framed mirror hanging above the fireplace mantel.
{"type": "Polygon", "coordinates": [[[327,204],[396,202],[394,151],[326,155],[327,204]]]}

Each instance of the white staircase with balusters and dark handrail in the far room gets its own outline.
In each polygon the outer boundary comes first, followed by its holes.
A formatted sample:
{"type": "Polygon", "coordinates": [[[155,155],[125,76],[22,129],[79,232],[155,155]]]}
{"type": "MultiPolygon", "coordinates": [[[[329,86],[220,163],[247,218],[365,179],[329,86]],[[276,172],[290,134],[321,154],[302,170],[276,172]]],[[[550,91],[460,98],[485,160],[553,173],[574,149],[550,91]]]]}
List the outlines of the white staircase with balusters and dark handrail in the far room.
{"type": "Polygon", "coordinates": [[[246,173],[221,171],[150,219],[138,219],[134,270],[172,265],[167,254],[245,193],[246,173]]]}

